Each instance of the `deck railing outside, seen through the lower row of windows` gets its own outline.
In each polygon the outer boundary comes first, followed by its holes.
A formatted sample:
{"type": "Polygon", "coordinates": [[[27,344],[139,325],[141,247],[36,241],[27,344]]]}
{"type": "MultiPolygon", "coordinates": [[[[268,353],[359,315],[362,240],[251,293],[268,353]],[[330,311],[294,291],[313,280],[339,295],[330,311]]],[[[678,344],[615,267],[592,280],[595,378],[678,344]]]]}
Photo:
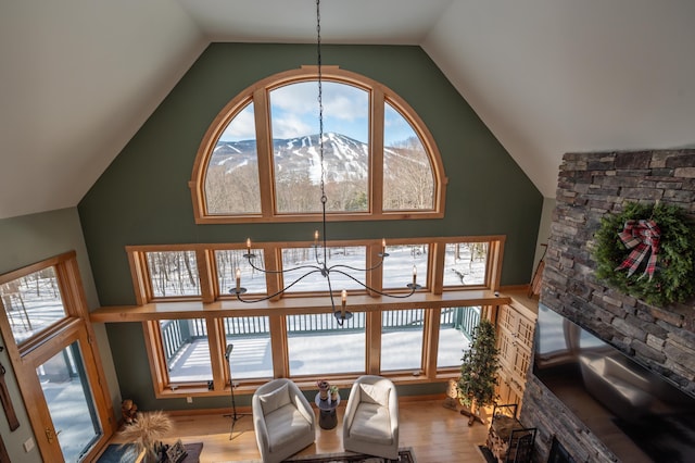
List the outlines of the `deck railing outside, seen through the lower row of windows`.
{"type": "MultiPolygon", "coordinates": [[[[390,310],[381,314],[381,327],[384,331],[403,329],[421,329],[425,324],[425,309],[390,310]]],[[[357,312],[345,321],[341,331],[359,331],[365,328],[365,313],[357,312]]],[[[480,323],[480,308],[443,308],[441,310],[440,326],[452,327],[462,331],[469,340],[472,330],[480,323]]],[[[239,316],[224,318],[227,337],[269,336],[270,326],[267,316],[239,316]]],[[[287,317],[288,336],[303,336],[326,333],[338,329],[338,323],[330,313],[299,314],[287,317]]],[[[172,320],[162,323],[162,345],[167,363],[187,343],[207,336],[207,326],[202,318],[172,320]]]]}

